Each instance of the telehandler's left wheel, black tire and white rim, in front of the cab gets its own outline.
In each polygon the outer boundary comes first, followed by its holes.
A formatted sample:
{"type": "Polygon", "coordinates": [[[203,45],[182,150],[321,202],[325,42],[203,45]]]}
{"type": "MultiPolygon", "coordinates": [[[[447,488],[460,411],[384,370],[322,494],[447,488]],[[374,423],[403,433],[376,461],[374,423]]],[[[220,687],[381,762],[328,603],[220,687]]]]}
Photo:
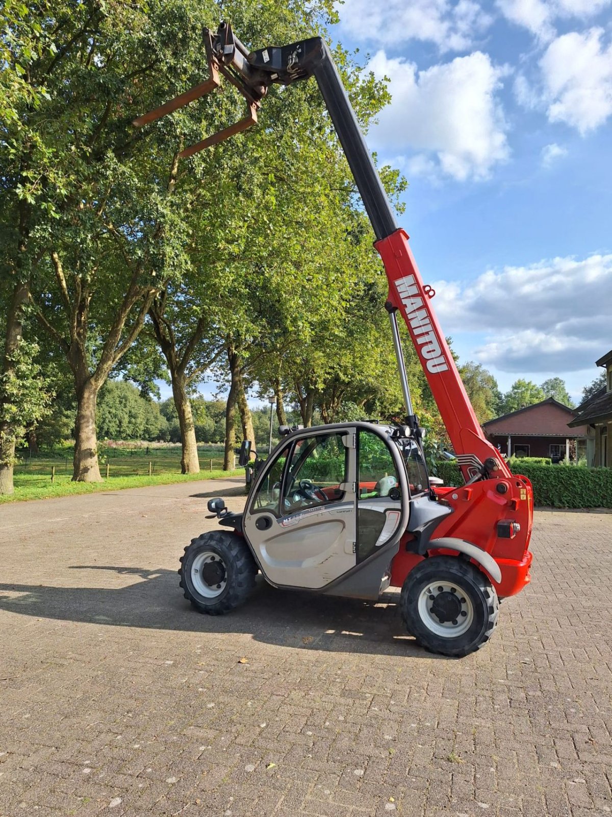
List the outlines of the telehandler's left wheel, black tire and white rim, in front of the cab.
{"type": "Polygon", "coordinates": [[[199,613],[223,615],[244,604],[255,587],[256,574],[257,565],[248,545],[241,536],[229,531],[214,530],[192,539],[180,557],[180,587],[199,613]],[[202,574],[202,570],[196,569],[193,573],[198,564],[207,565],[209,572],[216,570],[215,581],[220,583],[208,585],[200,576],[198,589],[198,574],[202,574]],[[208,596],[204,595],[209,591],[208,596]]]}

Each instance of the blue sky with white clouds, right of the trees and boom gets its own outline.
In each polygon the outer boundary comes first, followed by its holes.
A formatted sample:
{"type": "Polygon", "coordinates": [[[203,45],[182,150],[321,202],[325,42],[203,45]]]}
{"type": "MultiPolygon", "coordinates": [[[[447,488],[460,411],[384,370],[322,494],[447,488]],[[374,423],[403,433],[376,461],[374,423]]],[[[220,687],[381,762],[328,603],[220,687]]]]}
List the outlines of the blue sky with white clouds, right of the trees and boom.
{"type": "Polygon", "coordinates": [[[368,142],[462,360],[506,390],[612,348],[612,0],[345,0],[335,35],[390,79],[368,142]]]}

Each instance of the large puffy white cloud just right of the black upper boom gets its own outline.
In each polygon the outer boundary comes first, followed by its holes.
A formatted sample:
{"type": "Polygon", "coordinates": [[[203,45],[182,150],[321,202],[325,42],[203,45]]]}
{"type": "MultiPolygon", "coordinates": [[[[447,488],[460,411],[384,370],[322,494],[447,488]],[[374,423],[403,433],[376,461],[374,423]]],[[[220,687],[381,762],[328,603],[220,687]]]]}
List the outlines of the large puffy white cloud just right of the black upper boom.
{"type": "Polygon", "coordinates": [[[367,69],[391,81],[391,105],[371,132],[379,151],[410,152],[406,164],[413,172],[431,175],[435,168],[459,181],[486,178],[508,158],[507,126],[495,97],[507,69],[493,65],[488,54],[475,51],[418,71],[379,51],[367,69]]]}

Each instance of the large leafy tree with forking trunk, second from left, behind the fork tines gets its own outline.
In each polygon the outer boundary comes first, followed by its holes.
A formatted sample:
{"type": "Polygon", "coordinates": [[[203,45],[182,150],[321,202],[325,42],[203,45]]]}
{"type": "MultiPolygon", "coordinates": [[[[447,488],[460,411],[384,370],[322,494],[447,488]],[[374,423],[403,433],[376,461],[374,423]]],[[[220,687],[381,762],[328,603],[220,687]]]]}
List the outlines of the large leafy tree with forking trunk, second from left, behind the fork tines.
{"type": "Polygon", "coordinates": [[[175,156],[201,127],[195,110],[154,130],[135,132],[131,120],[200,81],[202,16],[216,20],[219,7],[43,0],[5,3],[2,14],[2,221],[15,281],[7,337],[20,333],[32,298],[73,373],[73,478],[99,480],[97,395],[156,292],[188,263],[175,156]]]}

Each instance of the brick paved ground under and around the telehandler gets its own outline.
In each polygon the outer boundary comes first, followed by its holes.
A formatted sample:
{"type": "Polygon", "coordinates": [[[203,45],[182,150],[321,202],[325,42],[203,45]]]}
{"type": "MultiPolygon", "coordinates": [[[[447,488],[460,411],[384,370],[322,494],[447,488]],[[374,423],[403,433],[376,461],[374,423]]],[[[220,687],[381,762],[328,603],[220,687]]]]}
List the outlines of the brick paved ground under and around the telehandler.
{"type": "Polygon", "coordinates": [[[211,489],[0,508],[2,817],[610,814],[612,516],[538,512],[533,584],[452,660],[393,599],[195,613],[211,489]]]}

